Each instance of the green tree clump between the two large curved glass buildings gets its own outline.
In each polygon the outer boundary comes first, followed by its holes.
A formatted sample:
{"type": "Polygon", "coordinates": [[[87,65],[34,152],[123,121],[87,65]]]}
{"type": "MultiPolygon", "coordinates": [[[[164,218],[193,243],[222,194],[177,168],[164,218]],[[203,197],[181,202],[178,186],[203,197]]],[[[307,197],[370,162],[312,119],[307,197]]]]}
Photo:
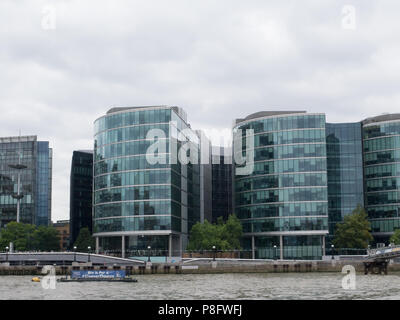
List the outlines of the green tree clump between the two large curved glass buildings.
{"type": "Polygon", "coordinates": [[[216,224],[207,220],[204,223],[196,223],[190,232],[187,250],[212,250],[215,246],[218,250],[240,249],[240,237],[242,225],[236,216],[229,216],[226,223],[219,218],[216,224]]]}

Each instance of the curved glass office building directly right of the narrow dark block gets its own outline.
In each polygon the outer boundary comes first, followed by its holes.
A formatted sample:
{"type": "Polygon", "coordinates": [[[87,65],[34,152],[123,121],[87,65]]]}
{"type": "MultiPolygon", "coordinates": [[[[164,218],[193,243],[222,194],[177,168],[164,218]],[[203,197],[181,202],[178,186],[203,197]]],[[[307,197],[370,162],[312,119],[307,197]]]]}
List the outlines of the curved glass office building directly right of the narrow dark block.
{"type": "Polygon", "coordinates": [[[200,147],[184,111],[112,108],[95,121],[94,147],[97,251],[137,256],[150,247],[151,255],[180,255],[200,221],[200,147]],[[158,129],[155,139],[151,129],[158,129]]]}

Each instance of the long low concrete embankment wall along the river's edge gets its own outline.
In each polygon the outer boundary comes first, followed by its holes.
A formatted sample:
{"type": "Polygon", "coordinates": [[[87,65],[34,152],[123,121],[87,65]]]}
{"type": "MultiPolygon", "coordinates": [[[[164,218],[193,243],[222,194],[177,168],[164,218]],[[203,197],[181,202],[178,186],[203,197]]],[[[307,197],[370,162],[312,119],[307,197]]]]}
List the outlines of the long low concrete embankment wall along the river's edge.
{"type": "MultiPolygon", "coordinates": [[[[211,274],[211,273],[288,273],[288,272],[341,272],[345,265],[352,265],[357,272],[364,272],[362,261],[257,261],[257,260],[192,260],[179,264],[147,264],[146,266],[121,266],[127,274],[211,274]]],[[[69,274],[75,270],[104,270],[104,267],[56,266],[57,275],[69,274]]],[[[113,270],[114,267],[107,267],[113,270]]],[[[388,272],[400,271],[400,263],[391,263],[388,272]]],[[[0,266],[0,275],[42,275],[42,266],[0,266]]]]}

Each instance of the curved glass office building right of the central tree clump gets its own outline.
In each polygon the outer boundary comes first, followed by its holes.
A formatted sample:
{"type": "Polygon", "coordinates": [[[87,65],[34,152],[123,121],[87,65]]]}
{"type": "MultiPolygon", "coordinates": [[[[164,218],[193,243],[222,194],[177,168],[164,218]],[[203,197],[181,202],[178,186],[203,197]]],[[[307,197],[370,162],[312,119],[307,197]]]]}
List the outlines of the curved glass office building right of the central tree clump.
{"type": "Polygon", "coordinates": [[[238,119],[234,141],[241,139],[242,147],[234,145],[235,157],[251,150],[248,129],[254,130],[254,168],[239,176],[234,167],[244,248],[255,258],[321,259],[328,234],[325,115],[259,112],[238,119]]]}

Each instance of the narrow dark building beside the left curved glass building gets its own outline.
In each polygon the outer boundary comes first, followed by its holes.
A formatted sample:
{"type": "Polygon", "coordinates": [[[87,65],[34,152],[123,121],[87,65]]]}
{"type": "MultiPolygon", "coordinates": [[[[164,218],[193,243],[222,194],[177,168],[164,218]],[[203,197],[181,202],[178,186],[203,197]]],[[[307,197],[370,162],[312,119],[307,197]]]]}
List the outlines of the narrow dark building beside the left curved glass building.
{"type": "Polygon", "coordinates": [[[75,243],[82,228],[92,232],[93,151],[72,154],[70,176],[70,244],[75,243]]]}

